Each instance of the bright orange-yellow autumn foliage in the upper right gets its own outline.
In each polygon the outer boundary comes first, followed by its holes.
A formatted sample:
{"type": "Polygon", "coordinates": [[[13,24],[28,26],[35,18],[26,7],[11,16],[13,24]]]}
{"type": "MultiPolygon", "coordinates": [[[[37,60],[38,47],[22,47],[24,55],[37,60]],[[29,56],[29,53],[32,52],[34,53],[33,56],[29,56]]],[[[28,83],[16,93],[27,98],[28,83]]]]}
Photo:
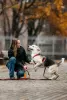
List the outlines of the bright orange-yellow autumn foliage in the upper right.
{"type": "Polygon", "coordinates": [[[67,36],[67,12],[62,13],[63,1],[54,0],[54,6],[56,7],[58,16],[56,12],[52,10],[51,3],[48,3],[46,7],[44,6],[40,9],[37,8],[36,11],[33,10],[35,14],[29,16],[28,18],[47,18],[49,23],[58,29],[62,36],[67,36]]]}

